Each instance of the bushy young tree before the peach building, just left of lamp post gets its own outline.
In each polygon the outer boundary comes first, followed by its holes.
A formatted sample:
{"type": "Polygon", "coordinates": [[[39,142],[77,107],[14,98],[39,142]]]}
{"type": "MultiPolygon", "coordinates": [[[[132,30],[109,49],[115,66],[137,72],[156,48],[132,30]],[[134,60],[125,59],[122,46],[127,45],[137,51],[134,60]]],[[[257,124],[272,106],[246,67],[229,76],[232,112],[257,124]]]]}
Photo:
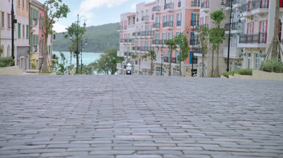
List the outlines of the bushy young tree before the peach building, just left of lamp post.
{"type": "Polygon", "coordinates": [[[187,60],[187,57],[189,57],[189,42],[187,40],[187,36],[185,34],[185,31],[183,33],[180,33],[179,35],[175,36],[173,38],[173,40],[175,40],[175,43],[178,47],[180,47],[180,55],[178,55],[178,61],[180,62],[180,76],[182,77],[182,62],[184,62],[185,60],[187,60]]]}

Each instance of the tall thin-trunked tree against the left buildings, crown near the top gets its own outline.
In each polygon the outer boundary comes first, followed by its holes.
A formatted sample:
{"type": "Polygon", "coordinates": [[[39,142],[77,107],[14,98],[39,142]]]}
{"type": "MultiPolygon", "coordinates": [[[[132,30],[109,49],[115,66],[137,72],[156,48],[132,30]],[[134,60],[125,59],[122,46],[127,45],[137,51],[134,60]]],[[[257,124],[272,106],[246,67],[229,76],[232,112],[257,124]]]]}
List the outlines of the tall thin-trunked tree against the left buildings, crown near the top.
{"type": "Polygon", "coordinates": [[[43,64],[42,72],[45,73],[48,72],[47,69],[48,35],[52,35],[53,33],[55,33],[54,30],[52,30],[55,20],[59,18],[67,18],[67,14],[70,12],[70,9],[66,4],[62,4],[62,0],[46,0],[43,7],[46,11],[42,23],[42,27],[43,27],[42,29],[45,35],[45,41],[44,41],[45,44],[44,44],[43,59],[42,59],[43,63],[40,64],[40,70],[41,70],[41,65],[43,64]]]}

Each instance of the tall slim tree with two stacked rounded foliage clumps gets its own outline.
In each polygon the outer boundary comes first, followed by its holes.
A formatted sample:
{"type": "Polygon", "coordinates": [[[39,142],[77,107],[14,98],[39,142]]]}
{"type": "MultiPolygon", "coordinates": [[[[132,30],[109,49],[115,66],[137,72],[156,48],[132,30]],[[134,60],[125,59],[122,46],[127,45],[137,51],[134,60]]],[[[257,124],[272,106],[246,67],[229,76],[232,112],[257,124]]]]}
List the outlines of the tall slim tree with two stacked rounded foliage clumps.
{"type": "MultiPolygon", "coordinates": [[[[221,22],[226,18],[223,11],[218,10],[210,13],[210,18],[212,18],[212,23],[215,24],[215,28],[209,30],[209,42],[212,43],[212,48],[216,48],[216,67],[215,67],[215,77],[220,77],[220,67],[219,67],[219,47],[225,39],[225,30],[221,28],[221,22]]],[[[213,59],[212,59],[213,60],[213,59]]],[[[213,69],[213,67],[212,67],[213,69]]]]}

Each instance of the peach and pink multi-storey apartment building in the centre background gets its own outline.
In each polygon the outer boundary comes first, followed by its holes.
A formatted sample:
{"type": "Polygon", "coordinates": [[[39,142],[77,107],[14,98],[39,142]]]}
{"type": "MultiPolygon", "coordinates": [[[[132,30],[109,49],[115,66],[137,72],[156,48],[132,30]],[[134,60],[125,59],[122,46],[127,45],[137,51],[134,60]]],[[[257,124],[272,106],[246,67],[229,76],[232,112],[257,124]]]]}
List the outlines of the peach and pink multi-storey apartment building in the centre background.
{"type": "MultiPolygon", "coordinates": [[[[154,50],[156,52],[156,61],[154,61],[152,75],[168,76],[169,62],[171,60],[171,76],[179,76],[179,69],[182,70],[182,74],[189,76],[193,62],[192,53],[180,67],[177,59],[180,50],[169,50],[165,43],[166,40],[173,39],[175,35],[183,32],[187,32],[189,34],[187,36],[188,40],[192,40],[192,36],[190,36],[192,31],[191,21],[195,20],[195,23],[199,21],[199,6],[200,1],[192,0],[156,0],[150,3],[137,4],[134,15],[134,30],[127,29],[127,33],[123,33],[120,29],[120,51],[117,52],[118,56],[125,55],[125,52],[132,52],[137,57],[131,59],[131,56],[127,53],[127,59],[134,64],[134,74],[151,75],[151,61],[149,57],[144,59],[142,56],[146,55],[149,50],[154,50]],[[134,32],[131,34],[130,31],[134,32]],[[127,35],[125,36],[125,34],[127,35]],[[130,35],[132,35],[130,37],[132,43],[126,47],[125,43],[121,43],[121,41],[130,35]],[[125,51],[126,49],[127,51],[125,51]]],[[[123,19],[126,19],[125,16],[125,14],[121,15],[120,26],[125,26],[125,23],[129,24],[129,18],[127,18],[128,21],[123,21],[123,19]]]]}

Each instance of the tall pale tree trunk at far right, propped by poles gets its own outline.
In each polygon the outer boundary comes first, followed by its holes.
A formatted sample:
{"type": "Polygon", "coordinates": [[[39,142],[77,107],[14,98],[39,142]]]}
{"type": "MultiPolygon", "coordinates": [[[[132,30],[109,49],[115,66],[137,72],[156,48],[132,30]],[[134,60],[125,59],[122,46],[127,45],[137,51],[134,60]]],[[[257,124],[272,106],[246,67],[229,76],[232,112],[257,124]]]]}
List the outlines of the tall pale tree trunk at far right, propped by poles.
{"type": "Polygon", "coordinates": [[[272,52],[271,52],[271,58],[278,60],[278,53],[277,53],[277,47],[278,47],[278,26],[279,26],[279,0],[276,1],[276,7],[275,7],[275,30],[274,30],[274,42],[272,43],[272,52]]]}

